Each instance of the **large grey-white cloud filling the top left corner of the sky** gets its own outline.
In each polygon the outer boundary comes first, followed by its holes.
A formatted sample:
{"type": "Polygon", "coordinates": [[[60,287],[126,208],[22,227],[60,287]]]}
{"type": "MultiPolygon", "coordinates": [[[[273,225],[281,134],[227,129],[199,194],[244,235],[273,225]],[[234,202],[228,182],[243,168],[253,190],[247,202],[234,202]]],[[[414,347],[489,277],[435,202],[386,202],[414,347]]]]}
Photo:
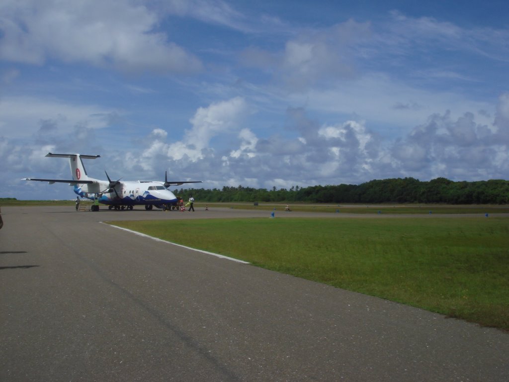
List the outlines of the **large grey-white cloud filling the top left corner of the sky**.
{"type": "Polygon", "coordinates": [[[124,0],[7,0],[0,5],[0,59],[48,59],[125,71],[194,72],[199,59],[156,32],[156,12],[124,0]]]}

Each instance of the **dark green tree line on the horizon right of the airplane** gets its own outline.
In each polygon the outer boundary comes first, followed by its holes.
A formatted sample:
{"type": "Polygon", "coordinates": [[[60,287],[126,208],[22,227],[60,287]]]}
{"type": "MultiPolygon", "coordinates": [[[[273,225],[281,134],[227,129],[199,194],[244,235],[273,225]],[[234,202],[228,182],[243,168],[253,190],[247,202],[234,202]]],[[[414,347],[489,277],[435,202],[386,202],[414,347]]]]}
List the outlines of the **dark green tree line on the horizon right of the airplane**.
{"type": "Polygon", "coordinates": [[[420,181],[414,178],[372,180],[361,184],[252,188],[224,186],[181,188],[175,195],[192,195],[200,202],[275,202],[275,203],[446,203],[509,204],[509,181],[483,180],[454,182],[446,178],[420,181]]]}

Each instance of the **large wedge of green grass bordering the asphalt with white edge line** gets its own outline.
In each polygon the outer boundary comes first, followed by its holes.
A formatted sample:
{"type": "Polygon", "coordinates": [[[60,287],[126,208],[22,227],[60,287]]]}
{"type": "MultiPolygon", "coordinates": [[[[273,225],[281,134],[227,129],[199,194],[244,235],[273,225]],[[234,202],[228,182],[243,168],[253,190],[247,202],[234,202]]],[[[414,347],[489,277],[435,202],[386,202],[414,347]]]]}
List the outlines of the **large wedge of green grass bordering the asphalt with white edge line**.
{"type": "Polygon", "coordinates": [[[335,287],[509,330],[509,219],[115,222],[335,287]]]}

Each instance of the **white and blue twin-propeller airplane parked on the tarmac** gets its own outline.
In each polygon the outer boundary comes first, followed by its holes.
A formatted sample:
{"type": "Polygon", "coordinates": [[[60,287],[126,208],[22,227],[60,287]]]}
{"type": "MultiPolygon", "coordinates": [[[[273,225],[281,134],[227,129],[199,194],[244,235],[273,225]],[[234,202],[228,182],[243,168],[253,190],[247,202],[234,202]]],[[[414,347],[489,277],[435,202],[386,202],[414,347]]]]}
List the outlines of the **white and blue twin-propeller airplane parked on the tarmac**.
{"type": "MultiPolygon", "coordinates": [[[[34,180],[53,184],[69,183],[74,185],[74,193],[82,198],[87,198],[108,206],[108,209],[132,210],[135,205],[145,205],[146,210],[154,206],[166,210],[177,203],[177,197],[167,188],[170,185],[181,185],[184,183],[202,183],[197,181],[168,181],[167,172],[164,174],[164,182],[157,181],[111,181],[106,173],[106,180],[90,178],[83,166],[82,159],[97,159],[100,155],[81,154],[52,154],[47,153],[50,158],[69,158],[72,179],[36,179],[23,178],[21,180],[34,180]]],[[[99,205],[94,204],[92,211],[98,211],[99,205]]]]}

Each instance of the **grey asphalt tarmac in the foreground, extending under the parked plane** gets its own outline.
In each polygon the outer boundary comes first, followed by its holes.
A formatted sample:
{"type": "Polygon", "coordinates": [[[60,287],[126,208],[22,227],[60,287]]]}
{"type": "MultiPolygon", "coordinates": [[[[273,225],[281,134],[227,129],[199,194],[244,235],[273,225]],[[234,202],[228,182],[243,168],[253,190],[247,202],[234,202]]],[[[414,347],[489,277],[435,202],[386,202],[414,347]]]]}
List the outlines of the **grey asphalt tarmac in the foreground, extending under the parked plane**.
{"type": "Polygon", "coordinates": [[[508,333],[100,223],[269,214],[2,207],[0,380],[509,380],[508,333]]]}

